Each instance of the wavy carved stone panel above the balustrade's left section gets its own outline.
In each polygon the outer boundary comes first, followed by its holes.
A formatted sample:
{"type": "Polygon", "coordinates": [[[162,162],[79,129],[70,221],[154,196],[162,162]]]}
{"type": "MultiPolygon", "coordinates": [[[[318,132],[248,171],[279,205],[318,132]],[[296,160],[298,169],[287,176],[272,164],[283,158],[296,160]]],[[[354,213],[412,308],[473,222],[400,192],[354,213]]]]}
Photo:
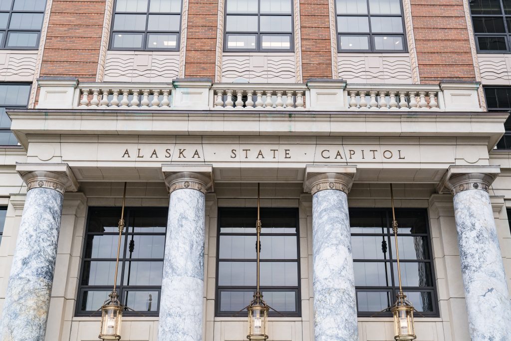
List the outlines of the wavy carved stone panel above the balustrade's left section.
{"type": "Polygon", "coordinates": [[[108,51],[104,82],[167,83],[179,73],[179,52],[108,51]]]}

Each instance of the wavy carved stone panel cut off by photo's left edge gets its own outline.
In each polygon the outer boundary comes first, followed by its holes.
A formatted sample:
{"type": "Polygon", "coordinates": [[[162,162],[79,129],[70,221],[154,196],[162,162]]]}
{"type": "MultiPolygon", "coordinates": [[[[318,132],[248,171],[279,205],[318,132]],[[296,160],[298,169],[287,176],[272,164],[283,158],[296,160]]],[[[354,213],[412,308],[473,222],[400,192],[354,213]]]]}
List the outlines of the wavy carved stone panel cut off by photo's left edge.
{"type": "Polygon", "coordinates": [[[0,51],[0,82],[32,82],[37,51],[0,51]]]}

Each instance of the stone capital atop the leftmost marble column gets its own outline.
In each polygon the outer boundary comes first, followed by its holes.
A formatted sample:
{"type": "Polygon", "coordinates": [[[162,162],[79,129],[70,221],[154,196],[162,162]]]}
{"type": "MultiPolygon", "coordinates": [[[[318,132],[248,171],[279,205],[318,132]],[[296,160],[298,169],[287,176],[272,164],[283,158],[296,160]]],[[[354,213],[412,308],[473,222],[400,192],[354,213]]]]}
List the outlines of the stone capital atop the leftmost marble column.
{"type": "Polygon", "coordinates": [[[79,187],[67,164],[16,164],[16,171],[27,184],[28,191],[33,188],[49,188],[63,194],[65,191],[76,192],[79,187]]]}

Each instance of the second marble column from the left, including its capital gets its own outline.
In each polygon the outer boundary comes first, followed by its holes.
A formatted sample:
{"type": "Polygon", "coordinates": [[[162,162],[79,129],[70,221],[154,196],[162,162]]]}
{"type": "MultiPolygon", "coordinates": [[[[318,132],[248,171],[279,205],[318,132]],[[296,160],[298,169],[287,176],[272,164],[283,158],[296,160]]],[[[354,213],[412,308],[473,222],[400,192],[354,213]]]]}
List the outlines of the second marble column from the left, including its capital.
{"type": "Polygon", "coordinates": [[[190,172],[165,169],[170,204],[158,341],[200,341],[204,298],[205,192],[211,184],[211,173],[194,168],[190,172]]]}

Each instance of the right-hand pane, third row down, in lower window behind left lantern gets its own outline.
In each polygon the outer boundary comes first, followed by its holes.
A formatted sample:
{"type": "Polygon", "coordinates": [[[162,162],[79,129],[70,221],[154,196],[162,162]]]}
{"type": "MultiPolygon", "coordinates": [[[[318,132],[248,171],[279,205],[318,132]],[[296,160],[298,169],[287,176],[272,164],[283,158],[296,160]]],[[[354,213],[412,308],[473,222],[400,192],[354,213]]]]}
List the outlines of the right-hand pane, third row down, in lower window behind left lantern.
{"type": "Polygon", "coordinates": [[[163,262],[125,262],[124,285],[161,285],[163,262]]]}

